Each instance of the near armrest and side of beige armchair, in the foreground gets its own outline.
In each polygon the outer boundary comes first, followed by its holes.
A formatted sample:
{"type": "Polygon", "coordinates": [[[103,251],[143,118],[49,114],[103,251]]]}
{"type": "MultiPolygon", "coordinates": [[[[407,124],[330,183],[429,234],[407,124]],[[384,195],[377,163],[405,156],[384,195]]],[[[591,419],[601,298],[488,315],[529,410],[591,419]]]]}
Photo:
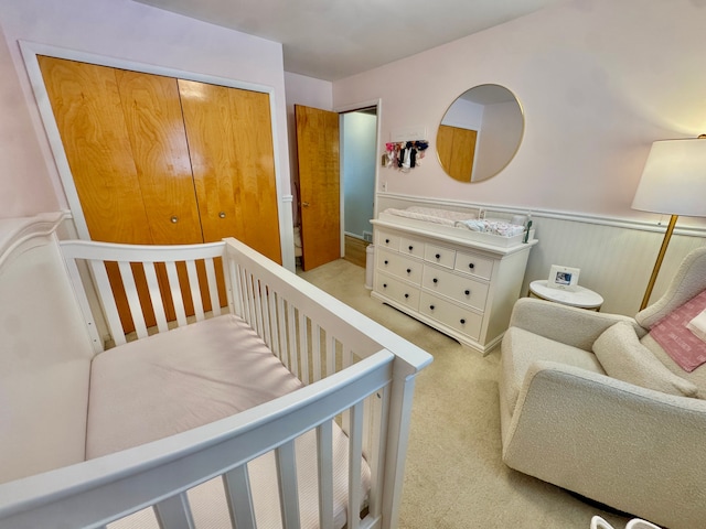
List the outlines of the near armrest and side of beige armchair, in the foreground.
{"type": "Polygon", "coordinates": [[[706,401],[553,361],[528,369],[503,460],[673,529],[706,519],[706,401]]]}

